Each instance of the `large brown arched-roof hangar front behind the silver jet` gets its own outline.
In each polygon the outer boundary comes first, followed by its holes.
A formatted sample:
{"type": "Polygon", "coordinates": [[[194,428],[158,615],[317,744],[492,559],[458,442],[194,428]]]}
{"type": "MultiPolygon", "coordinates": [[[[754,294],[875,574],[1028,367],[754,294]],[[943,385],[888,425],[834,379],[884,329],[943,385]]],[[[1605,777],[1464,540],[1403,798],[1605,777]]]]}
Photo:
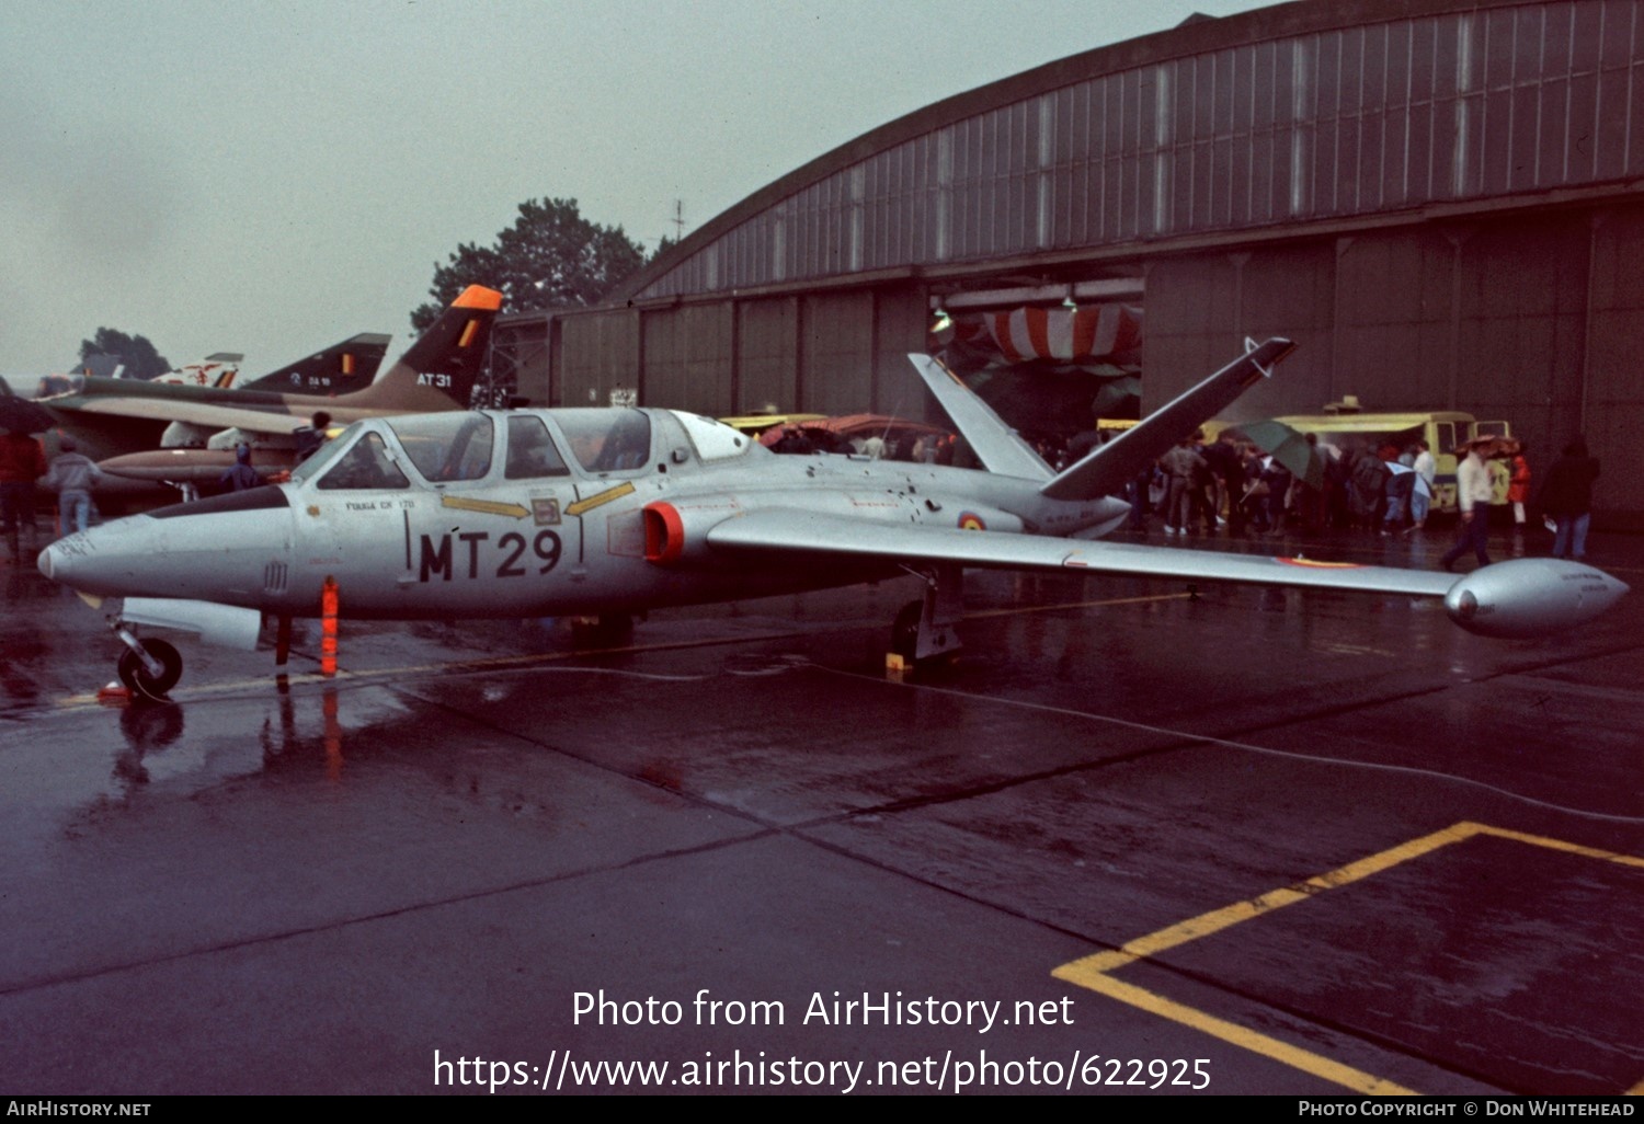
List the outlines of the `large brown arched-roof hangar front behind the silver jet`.
{"type": "Polygon", "coordinates": [[[1131,278],[1148,409],[1289,335],[1243,414],[1463,409],[1539,465],[1585,432],[1601,514],[1644,526],[1641,251],[1644,5],[1310,0],[911,113],[705,223],[620,304],[498,337],[538,403],[922,416],[904,353],[939,304],[1131,278]]]}

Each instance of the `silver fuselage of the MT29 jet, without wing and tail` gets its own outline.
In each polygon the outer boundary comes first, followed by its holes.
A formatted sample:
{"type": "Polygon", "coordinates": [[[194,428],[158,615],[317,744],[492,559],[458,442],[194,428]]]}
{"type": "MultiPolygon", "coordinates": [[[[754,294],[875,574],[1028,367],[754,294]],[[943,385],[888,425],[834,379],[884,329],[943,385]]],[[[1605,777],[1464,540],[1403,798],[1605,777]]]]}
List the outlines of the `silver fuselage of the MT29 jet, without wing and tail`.
{"type": "MultiPolygon", "coordinates": [[[[1111,498],[1046,500],[1037,481],[968,468],[776,455],[717,422],[666,409],[437,416],[450,419],[478,419],[488,434],[469,437],[488,450],[464,449],[454,480],[441,478],[449,449],[418,449],[437,440],[418,417],[362,421],[291,483],[69,536],[46,550],[41,569],[92,595],[191,598],[293,616],[319,613],[327,578],[345,616],[557,616],[899,572],[884,560],[733,555],[709,565],[697,557],[707,527],[748,511],[857,519],[866,536],[876,526],[1103,532],[1128,511],[1111,498]],[[643,419],[648,447],[631,454],[633,463],[603,462],[595,445],[608,435],[589,432],[590,414],[643,419]],[[564,450],[549,468],[518,467],[513,442],[528,417],[564,450]],[[579,421],[567,426],[567,417],[579,421]],[[350,450],[367,442],[398,473],[347,477],[350,450]]],[[[439,429],[454,432],[449,424],[439,429]]],[[[533,424],[528,435],[541,442],[543,432],[533,424]]]]}

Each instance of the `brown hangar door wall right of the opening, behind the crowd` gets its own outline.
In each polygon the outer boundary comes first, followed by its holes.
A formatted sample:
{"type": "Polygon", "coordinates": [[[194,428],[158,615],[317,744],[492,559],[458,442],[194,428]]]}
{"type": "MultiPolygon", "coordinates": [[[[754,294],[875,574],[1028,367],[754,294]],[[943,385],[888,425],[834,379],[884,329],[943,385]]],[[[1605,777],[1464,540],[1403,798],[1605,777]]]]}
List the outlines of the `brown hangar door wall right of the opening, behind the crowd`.
{"type": "Polygon", "coordinates": [[[1600,503],[1644,526],[1644,207],[1437,222],[1148,266],[1149,403],[1226,362],[1236,332],[1302,347],[1243,417],[1462,409],[1504,417],[1547,465],[1577,434],[1600,503]],[[1235,330],[1236,329],[1236,330],[1235,330]]]}

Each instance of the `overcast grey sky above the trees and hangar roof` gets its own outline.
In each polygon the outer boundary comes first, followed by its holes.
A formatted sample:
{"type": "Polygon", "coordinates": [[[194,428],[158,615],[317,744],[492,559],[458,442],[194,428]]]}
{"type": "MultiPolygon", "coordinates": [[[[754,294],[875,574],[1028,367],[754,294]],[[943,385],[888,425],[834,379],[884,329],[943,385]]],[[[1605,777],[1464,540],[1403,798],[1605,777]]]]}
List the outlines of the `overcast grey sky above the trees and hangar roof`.
{"type": "Polygon", "coordinates": [[[646,248],[929,102],[1249,0],[0,0],[0,371],[406,343],[526,199],[646,248]]]}

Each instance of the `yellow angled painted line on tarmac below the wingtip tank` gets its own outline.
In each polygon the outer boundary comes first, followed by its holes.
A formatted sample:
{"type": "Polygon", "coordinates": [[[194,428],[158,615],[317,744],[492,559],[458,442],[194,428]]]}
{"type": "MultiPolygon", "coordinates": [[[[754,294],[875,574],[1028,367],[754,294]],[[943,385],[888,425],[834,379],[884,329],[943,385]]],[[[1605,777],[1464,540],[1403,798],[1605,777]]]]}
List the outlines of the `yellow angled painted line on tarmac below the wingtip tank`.
{"type": "MultiPolygon", "coordinates": [[[[1169,925],[1148,933],[1146,937],[1138,937],[1118,950],[1082,956],[1080,960],[1074,960],[1055,968],[1051,974],[1057,979],[1065,979],[1067,983],[1078,984],[1080,988],[1087,988],[1098,994],[1118,999],[1120,1002],[1128,1002],[1133,1007],[1171,1019],[1172,1022],[1179,1022],[1185,1027],[1202,1030],[1203,1034],[1243,1047],[1253,1053],[1261,1053],[1274,1062],[1282,1062],[1284,1065],[1291,1065],[1304,1073],[1312,1073],[1314,1076],[1327,1081],[1335,1081],[1337,1085],[1353,1089],[1355,1093],[1378,1096],[1415,1094],[1415,1089],[1407,1089],[1384,1078],[1378,1078],[1320,1053],[1314,1053],[1312,1050],[1304,1050],[1291,1045],[1289,1042],[1282,1042],[1258,1030],[1218,1019],[1212,1014],[1175,1002],[1174,999],[1166,999],[1164,996],[1157,996],[1134,984],[1123,983],[1115,979],[1111,973],[1133,965],[1138,960],[1157,956],[1171,948],[1198,940],[1200,937],[1208,937],[1240,922],[1271,914],[1276,909],[1294,905],[1295,902],[1305,902],[1325,891],[1351,886],[1353,882],[1366,879],[1371,874],[1379,874],[1392,866],[1397,866],[1399,863],[1430,855],[1442,846],[1462,843],[1480,835],[1489,835],[1531,846],[1542,846],[1563,851],[1567,855],[1582,855],[1585,858],[1619,863],[1623,866],[1644,868],[1644,858],[1634,855],[1603,851],[1590,846],[1580,846],[1577,843],[1567,843],[1563,840],[1554,840],[1544,835],[1527,835],[1524,831],[1511,831],[1508,828],[1496,828],[1486,823],[1471,823],[1463,820],[1462,823],[1455,823],[1442,831],[1434,831],[1432,835],[1424,835],[1411,840],[1409,843],[1401,843],[1399,846],[1379,851],[1358,859],[1356,863],[1348,863],[1346,866],[1340,866],[1325,874],[1317,874],[1304,882],[1295,882],[1294,886],[1286,886],[1249,901],[1233,902],[1231,905],[1210,910],[1208,914],[1200,914],[1198,917],[1169,925]]],[[[1644,1081],[1628,1089],[1628,1094],[1644,1094],[1644,1081]]]]}

